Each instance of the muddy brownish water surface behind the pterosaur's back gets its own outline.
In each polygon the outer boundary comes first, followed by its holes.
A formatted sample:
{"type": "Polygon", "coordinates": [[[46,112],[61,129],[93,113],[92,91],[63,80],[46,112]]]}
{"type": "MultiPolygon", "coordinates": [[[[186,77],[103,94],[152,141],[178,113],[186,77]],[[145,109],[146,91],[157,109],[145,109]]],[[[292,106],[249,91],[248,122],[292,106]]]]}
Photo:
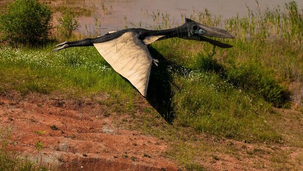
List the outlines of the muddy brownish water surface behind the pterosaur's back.
{"type": "MultiPolygon", "coordinates": [[[[264,11],[267,7],[274,9],[280,6],[284,8],[285,3],[289,0],[259,0],[259,7],[264,11]]],[[[299,9],[303,7],[303,0],[296,0],[299,9]]],[[[170,23],[172,25],[181,25],[181,14],[190,16],[197,15],[199,12],[208,9],[212,15],[221,16],[224,21],[232,16],[247,15],[247,7],[253,11],[257,11],[257,3],[255,0],[83,0],[85,8],[92,9],[90,17],[79,17],[81,33],[99,35],[105,34],[111,30],[124,29],[128,27],[140,27],[153,29],[155,22],[153,12],[158,14],[160,18],[162,13],[169,14],[170,23]],[[102,7],[104,4],[104,8],[102,7]],[[107,9],[107,10],[103,10],[107,9]],[[131,25],[130,22],[135,25],[131,25]]],[[[161,23],[157,20],[156,24],[161,23]]]]}

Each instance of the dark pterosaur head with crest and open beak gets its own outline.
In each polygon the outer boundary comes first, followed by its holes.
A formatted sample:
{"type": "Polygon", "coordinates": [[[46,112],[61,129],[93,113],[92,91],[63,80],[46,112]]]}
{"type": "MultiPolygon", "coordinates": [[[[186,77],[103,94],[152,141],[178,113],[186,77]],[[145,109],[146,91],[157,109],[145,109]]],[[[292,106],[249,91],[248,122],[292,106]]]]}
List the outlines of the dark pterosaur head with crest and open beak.
{"type": "Polygon", "coordinates": [[[185,28],[185,30],[187,32],[187,36],[184,37],[186,39],[207,41],[213,45],[216,45],[216,46],[219,46],[222,48],[232,47],[232,45],[221,43],[217,40],[213,40],[213,39],[205,37],[205,36],[210,36],[210,37],[219,37],[219,38],[234,38],[234,36],[229,34],[224,29],[209,27],[209,26],[197,23],[195,21],[192,21],[188,18],[185,19],[185,24],[183,24],[183,27],[185,28]]]}

